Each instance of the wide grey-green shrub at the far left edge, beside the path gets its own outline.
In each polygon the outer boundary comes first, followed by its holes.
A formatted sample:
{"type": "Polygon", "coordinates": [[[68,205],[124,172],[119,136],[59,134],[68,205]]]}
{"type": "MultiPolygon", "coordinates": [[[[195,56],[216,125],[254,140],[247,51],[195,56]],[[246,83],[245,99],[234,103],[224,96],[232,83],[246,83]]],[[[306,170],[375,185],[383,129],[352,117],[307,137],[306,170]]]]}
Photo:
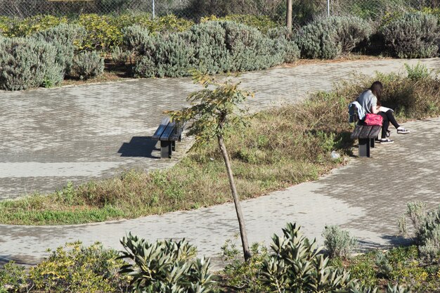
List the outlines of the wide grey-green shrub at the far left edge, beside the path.
{"type": "Polygon", "coordinates": [[[32,38],[0,39],[0,89],[55,86],[63,80],[56,48],[32,38]]]}

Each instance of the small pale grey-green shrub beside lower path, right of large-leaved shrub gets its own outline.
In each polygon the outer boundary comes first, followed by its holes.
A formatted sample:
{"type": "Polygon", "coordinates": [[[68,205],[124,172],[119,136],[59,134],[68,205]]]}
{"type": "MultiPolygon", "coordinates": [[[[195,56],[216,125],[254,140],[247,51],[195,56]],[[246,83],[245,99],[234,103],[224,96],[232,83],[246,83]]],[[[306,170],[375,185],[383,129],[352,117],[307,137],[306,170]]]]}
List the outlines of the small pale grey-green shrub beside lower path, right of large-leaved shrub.
{"type": "Polygon", "coordinates": [[[347,258],[358,247],[358,240],[352,237],[348,231],[339,226],[325,226],[323,231],[324,246],[330,257],[347,258]]]}

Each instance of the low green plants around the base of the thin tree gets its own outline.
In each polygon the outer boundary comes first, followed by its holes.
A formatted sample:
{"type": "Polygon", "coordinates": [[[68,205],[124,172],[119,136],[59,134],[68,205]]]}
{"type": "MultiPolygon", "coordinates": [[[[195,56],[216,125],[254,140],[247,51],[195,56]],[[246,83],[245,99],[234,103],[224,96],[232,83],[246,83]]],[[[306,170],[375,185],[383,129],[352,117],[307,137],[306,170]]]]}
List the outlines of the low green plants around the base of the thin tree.
{"type": "Polygon", "coordinates": [[[222,258],[226,266],[221,273],[224,284],[228,287],[240,288],[241,292],[268,292],[259,279],[259,270],[267,257],[267,249],[259,243],[251,246],[252,256],[248,261],[242,261],[240,251],[235,243],[228,239],[221,247],[222,258]]]}

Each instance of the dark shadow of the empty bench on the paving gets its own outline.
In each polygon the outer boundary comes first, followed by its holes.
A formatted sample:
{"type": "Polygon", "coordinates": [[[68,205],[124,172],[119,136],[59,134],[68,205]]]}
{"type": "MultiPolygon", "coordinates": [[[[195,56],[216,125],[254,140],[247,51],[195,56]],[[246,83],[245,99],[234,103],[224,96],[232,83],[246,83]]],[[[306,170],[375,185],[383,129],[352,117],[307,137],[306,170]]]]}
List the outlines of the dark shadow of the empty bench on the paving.
{"type": "Polygon", "coordinates": [[[160,159],[160,156],[152,155],[153,150],[160,151],[156,148],[157,141],[153,141],[151,136],[133,136],[129,143],[122,143],[121,148],[117,151],[121,157],[150,157],[160,159]]]}

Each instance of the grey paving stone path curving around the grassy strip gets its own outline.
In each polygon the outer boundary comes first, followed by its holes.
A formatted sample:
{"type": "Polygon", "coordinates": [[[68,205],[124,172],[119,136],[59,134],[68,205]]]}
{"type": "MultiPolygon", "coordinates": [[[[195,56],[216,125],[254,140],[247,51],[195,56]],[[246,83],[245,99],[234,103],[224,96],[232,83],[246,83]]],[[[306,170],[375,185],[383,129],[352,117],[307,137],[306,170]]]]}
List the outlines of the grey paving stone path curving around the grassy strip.
{"type": "MultiPolygon", "coordinates": [[[[440,59],[420,60],[440,68],[440,59]]],[[[257,91],[252,109],[295,102],[309,91],[330,90],[352,72],[401,70],[418,60],[377,60],[302,65],[242,74],[242,87],[257,91]]],[[[0,198],[48,192],[67,181],[106,178],[124,169],[169,167],[158,159],[152,135],[163,110],[185,105],[195,86],[190,79],[141,79],[61,89],[0,91],[0,198]]],[[[373,150],[371,159],[352,159],[312,183],[243,203],[251,242],[270,241],[286,221],[298,221],[311,237],[326,224],[349,229],[363,247],[384,247],[396,237],[396,219],[406,202],[440,200],[440,119],[405,124],[412,132],[394,134],[394,145],[373,150]],[[375,188],[366,193],[365,187],[375,188]]],[[[181,144],[180,155],[188,147],[181,144]]],[[[0,259],[36,263],[67,241],[98,240],[121,249],[119,238],[132,231],[149,240],[186,237],[200,254],[217,256],[238,232],[232,204],[142,219],[78,226],[0,225],[0,259]]],[[[239,243],[239,242],[238,242],[239,243]]]]}

